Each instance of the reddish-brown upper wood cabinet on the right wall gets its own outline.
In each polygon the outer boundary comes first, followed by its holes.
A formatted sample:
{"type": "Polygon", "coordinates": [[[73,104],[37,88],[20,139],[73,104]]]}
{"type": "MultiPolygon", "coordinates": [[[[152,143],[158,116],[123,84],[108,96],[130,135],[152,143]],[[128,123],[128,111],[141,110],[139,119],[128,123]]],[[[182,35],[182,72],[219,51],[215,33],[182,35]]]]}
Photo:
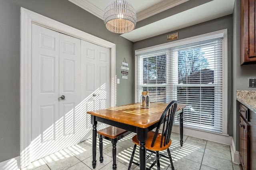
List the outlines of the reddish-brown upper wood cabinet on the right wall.
{"type": "Polygon", "coordinates": [[[255,0],[241,0],[241,65],[256,64],[255,0]]]}

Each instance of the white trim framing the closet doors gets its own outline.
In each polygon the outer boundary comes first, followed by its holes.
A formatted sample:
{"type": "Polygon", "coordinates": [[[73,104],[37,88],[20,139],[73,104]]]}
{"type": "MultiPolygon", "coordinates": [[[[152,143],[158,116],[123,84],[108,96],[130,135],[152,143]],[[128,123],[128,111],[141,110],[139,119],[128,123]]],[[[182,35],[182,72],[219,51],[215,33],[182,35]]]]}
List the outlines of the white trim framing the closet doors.
{"type": "Polygon", "coordinates": [[[110,106],[116,106],[116,45],[94,35],[20,8],[20,167],[30,164],[31,143],[31,24],[110,49],[110,106]]]}

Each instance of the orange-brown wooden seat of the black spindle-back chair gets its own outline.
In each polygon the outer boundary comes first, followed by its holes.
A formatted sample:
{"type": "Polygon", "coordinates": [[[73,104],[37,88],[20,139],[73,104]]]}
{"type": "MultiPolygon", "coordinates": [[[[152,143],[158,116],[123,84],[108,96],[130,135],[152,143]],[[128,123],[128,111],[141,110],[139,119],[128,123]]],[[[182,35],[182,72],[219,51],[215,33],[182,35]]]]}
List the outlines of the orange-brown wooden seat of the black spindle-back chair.
{"type": "MultiPolygon", "coordinates": [[[[167,148],[170,147],[171,143],[172,143],[172,140],[170,140],[170,142],[164,146],[164,140],[162,141],[162,148],[160,147],[160,144],[161,144],[161,137],[162,137],[162,134],[161,133],[158,133],[157,137],[156,137],[156,141],[154,143],[154,146],[151,147],[151,144],[152,144],[152,140],[153,140],[153,137],[154,137],[154,134],[155,132],[154,131],[149,131],[148,132],[148,139],[146,141],[146,145],[145,145],[145,148],[148,149],[148,150],[154,150],[154,151],[160,151],[160,150],[166,150],[167,148]]],[[[132,142],[135,143],[136,145],[140,146],[140,143],[137,139],[137,135],[135,135],[134,137],[132,137],[132,142]]]]}

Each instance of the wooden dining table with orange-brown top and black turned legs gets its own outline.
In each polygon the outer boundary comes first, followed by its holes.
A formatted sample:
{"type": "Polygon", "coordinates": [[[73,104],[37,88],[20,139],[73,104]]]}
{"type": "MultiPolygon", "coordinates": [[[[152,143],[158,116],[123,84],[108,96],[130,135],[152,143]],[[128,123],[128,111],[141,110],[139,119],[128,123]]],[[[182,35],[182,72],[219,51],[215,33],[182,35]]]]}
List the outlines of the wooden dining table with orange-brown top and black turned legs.
{"type": "MultiPolygon", "coordinates": [[[[115,127],[137,133],[140,141],[140,170],[146,170],[145,144],[148,132],[157,126],[157,123],[169,103],[150,102],[149,109],[141,109],[140,103],[124,106],[109,107],[95,111],[88,111],[92,123],[92,167],[96,167],[96,140],[97,122],[106,123],[115,127]]],[[[178,104],[176,114],[180,114],[180,145],[183,145],[183,108],[186,105],[178,104]]]]}

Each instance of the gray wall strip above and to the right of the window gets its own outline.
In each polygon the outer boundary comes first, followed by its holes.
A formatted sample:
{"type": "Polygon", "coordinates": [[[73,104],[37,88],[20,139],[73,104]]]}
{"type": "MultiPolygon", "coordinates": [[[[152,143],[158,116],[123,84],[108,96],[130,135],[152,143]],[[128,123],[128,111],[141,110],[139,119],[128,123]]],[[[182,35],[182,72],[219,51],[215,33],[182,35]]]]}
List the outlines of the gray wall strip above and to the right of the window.
{"type": "MultiPolygon", "coordinates": [[[[199,23],[190,27],[165,33],[156,37],[148,38],[134,43],[134,50],[151,47],[158,44],[167,43],[167,35],[178,32],[178,39],[184,39],[210,33],[221,29],[228,29],[228,134],[233,135],[233,87],[232,87],[232,37],[233,37],[233,18],[232,15],[217,18],[211,21],[199,23]]],[[[174,40],[176,41],[176,40],[174,40]]]]}

